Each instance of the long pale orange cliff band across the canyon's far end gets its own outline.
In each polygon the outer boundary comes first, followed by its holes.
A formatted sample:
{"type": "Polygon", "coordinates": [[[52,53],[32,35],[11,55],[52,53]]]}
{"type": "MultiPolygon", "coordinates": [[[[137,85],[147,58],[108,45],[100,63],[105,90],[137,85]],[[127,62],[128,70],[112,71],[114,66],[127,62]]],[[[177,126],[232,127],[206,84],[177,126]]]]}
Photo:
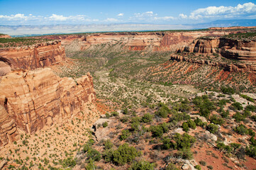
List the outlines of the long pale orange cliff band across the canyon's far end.
{"type": "MultiPolygon", "coordinates": [[[[243,30],[240,30],[243,32],[243,30]]],[[[91,33],[81,35],[45,35],[40,38],[51,40],[62,40],[62,45],[70,45],[74,40],[79,41],[79,50],[85,50],[91,45],[105,43],[121,43],[129,50],[145,50],[152,47],[152,50],[176,50],[182,45],[188,45],[196,38],[203,36],[223,36],[238,31],[165,31],[165,32],[124,32],[124,33],[91,33]]]]}

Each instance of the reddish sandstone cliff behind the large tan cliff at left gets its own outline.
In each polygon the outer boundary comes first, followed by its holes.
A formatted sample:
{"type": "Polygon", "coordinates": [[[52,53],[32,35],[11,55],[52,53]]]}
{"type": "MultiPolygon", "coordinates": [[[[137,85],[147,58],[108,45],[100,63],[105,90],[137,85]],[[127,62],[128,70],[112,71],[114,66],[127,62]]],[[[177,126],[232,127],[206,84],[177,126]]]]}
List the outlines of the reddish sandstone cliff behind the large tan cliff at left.
{"type": "Polygon", "coordinates": [[[31,45],[29,47],[0,48],[0,62],[12,69],[36,69],[48,67],[65,60],[65,49],[60,40],[31,45]]]}

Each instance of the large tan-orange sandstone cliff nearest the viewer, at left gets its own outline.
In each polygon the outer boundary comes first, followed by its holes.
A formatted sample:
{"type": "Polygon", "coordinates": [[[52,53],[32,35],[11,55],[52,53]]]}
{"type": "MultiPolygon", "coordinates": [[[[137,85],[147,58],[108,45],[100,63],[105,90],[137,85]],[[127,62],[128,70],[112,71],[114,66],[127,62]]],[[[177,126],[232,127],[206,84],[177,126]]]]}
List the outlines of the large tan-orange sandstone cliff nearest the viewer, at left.
{"type": "Polygon", "coordinates": [[[17,140],[18,129],[33,133],[96,100],[90,74],[74,81],[49,68],[6,74],[0,77],[0,89],[0,145],[17,140]]]}

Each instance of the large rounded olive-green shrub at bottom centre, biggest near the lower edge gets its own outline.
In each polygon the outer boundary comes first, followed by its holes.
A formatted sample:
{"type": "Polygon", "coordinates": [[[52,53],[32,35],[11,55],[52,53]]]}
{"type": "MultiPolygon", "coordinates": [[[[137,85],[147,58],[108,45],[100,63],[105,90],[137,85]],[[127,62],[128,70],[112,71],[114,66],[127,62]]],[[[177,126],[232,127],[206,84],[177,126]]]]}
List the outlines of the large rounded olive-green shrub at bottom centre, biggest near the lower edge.
{"type": "Polygon", "coordinates": [[[127,162],[133,161],[135,157],[138,157],[138,152],[134,147],[129,147],[127,143],[119,146],[113,152],[113,163],[118,165],[124,165],[127,162]]]}

